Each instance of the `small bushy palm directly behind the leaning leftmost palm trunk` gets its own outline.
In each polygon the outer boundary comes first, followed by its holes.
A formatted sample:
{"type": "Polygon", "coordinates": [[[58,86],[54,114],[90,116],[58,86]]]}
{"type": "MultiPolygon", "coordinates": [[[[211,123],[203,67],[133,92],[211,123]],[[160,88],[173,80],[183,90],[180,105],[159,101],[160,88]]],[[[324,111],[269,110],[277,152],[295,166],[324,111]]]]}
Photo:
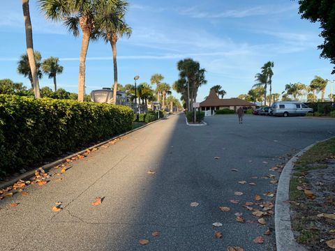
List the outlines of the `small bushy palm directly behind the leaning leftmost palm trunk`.
{"type": "MultiPolygon", "coordinates": [[[[42,56],[40,55],[40,52],[35,51],[34,52],[34,61],[35,61],[35,68],[37,72],[38,79],[41,79],[43,77],[42,70],[40,70],[40,60],[42,59],[42,56]]],[[[29,64],[29,58],[28,54],[22,54],[20,56],[20,60],[17,62],[17,73],[20,73],[24,75],[24,77],[27,77],[31,84],[31,89],[34,89],[34,78],[33,74],[31,74],[31,68],[29,64]]],[[[40,89],[38,88],[38,92],[40,89]]]]}

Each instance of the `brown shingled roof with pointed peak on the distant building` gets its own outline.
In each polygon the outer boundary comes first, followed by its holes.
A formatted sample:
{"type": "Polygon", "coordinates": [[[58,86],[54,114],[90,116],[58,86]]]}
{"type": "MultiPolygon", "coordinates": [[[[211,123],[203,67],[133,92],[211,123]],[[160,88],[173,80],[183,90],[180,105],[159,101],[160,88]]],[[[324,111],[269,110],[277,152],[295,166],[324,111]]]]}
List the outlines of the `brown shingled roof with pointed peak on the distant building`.
{"type": "Polygon", "coordinates": [[[241,100],[240,98],[223,98],[220,99],[216,95],[214,89],[211,89],[206,100],[200,102],[200,107],[230,107],[230,106],[255,106],[252,102],[241,100]]]}

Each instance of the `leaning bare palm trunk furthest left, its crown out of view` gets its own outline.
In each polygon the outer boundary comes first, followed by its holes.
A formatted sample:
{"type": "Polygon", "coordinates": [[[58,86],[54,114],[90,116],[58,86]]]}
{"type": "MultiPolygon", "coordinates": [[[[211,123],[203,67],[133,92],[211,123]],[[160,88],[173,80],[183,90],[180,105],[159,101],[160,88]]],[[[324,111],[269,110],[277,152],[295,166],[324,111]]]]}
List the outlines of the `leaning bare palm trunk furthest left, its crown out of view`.
{"type": "Polygon", "coordinates": [[[24,26],[26,29],[27,55],[29,59],[31,75],[33,77],[34,95],[35,98],[40,98],[40,84],[38,83],[36,62],[34,58],[33,29],[31,27],[31,20],[29,13],[29,0],[22,0],[22,10],[24,17],[24,26]]]}

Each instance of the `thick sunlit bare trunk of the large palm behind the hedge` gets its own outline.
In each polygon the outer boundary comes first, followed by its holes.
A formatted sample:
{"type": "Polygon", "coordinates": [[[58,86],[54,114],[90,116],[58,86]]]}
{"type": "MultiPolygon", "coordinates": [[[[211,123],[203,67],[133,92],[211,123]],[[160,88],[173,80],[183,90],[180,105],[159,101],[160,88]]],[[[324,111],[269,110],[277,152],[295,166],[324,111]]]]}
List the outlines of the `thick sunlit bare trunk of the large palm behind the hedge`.
{"type": "Polygon", "coordinates": [[[89,31],[83,30],[82,33],[82,47],[80,49],[80,58],[79,58],[79,78],[78,78],[78,101],[84,101],[85,93],[85,61],[87,50],[89,49],[89,31]]]}

